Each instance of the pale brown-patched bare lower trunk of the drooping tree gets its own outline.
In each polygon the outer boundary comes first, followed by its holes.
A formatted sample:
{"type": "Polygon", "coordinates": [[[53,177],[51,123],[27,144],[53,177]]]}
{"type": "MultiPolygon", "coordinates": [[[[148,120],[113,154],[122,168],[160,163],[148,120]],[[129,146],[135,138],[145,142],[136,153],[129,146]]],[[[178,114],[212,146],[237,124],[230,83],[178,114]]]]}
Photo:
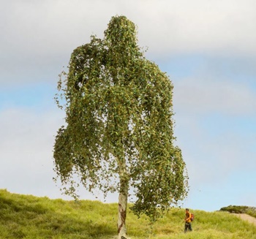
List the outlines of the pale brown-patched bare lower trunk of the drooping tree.
{"type": "Polygon", "coordinates": [[[118,197],[118,239],[127,239],[127,227],[125,220],[127,218],[127,198],[129,181],[126,178],[120,179],[120,191],[118,197]]]}

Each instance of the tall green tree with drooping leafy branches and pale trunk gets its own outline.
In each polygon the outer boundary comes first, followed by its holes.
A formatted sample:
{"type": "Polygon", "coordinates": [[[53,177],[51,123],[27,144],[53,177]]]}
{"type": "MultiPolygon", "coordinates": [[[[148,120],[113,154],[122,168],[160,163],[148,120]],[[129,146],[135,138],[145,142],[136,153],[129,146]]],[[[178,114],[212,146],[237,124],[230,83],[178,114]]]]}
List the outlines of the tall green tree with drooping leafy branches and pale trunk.
{"type": "Polygon", "coordinates": [[[118,191],[118,238],[127,237],[129,189],[133,212],[152,221],[186,197],[186,167],[173,145],[173,85],[143,56],[134,23],[115,16],[103,39],[76,48],[59,91],[67,125],[56,135],[56,174],[73,196],[74,173],[91,192],[118,191]]]}

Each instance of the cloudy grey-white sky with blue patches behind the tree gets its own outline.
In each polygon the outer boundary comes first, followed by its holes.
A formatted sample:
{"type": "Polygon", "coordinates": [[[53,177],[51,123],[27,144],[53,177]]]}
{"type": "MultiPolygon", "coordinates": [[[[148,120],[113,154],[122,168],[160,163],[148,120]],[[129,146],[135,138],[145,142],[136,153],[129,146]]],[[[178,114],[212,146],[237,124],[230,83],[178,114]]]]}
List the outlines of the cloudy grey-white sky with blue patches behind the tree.
{"type": "MultiPolygon", "coordinates": [[[[0,2],[0,189],[71,200],[53,181],[65,116],[53,100],[59,73],[72,50],[125,15],[146,58],[174,85],[176,145],[189,174],[181,206],[256,206],[255,0],[0,2]]],[[[117,194],[105,199],[117,201],[117,194]]]]}

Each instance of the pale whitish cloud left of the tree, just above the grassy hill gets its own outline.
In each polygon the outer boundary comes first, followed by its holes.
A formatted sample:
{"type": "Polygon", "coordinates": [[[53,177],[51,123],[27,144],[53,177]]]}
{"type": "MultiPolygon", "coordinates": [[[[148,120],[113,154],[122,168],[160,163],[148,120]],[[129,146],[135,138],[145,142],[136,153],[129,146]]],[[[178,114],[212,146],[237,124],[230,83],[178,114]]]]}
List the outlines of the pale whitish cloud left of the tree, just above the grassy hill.
{"type": "Polygon", "coordinates": [[[0,112],[1,189],[44,196],[55,188],[52,150],[59,126],[61,114],[53,110],[0,112]]]}

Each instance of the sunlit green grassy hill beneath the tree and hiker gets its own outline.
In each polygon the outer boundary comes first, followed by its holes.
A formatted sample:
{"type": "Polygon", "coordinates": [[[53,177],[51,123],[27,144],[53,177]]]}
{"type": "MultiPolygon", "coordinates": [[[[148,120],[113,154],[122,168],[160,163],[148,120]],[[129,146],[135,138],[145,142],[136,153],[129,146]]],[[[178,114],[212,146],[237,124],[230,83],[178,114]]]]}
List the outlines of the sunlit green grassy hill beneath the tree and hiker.
{"type": "MultiPolygon", "coordinates": [[[[127,215],[132,239],[256,239],[256,227],[225,211],[195,214],[193,232],[184,234],[184,209],[173,208],[156,224],[127,215]]],[[[0,238],[110,239],[116,236],[117,204],[50,200],[0,190],[0,238]]]]}

